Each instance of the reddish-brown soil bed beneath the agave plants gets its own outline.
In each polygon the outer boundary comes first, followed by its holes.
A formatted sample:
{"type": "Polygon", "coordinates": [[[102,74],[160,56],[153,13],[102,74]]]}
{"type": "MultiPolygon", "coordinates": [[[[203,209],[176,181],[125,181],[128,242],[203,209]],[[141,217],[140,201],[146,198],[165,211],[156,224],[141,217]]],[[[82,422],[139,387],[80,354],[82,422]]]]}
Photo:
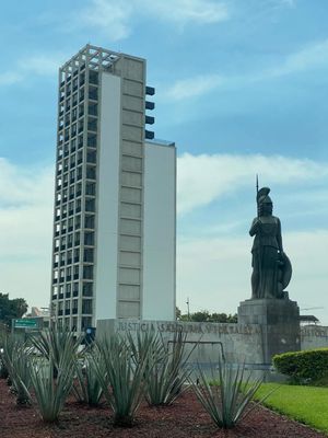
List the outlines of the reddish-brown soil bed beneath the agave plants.
{"type": "Polygon", "coordinates": [[[58,423],[45,424],[33,407],[19,407],[0,380],[0,438],[319,438],[326,435],[258,406],[234,429],[219,429],[191,391],[172,406],[138,411],[132,428],[113,426],[104,404],[91,408],[69,400],[58,423]]]}

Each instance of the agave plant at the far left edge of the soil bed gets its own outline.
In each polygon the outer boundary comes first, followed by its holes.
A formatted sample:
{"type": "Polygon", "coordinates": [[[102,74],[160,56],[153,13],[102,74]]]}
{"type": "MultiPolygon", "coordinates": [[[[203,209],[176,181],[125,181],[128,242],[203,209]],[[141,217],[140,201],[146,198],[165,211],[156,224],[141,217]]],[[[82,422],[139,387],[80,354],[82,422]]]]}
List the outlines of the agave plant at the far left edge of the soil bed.
{"type": "Polygon", "coordinates": [[[31,404],[31,395],[28,389],[31,387],[31,378],[28,372],[28,350],[23,342],[8,336],[4,341],[3,353],[1,354],[8,370],[12,392],[16,396],[19,405],[31,404]]]}

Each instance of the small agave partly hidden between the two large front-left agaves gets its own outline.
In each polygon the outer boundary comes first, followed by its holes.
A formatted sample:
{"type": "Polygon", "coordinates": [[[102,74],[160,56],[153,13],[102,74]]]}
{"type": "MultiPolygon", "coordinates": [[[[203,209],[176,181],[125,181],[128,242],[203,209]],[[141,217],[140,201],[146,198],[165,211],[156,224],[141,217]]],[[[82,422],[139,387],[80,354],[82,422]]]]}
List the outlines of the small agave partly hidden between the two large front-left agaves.
{"type": "Polygon", "coordinates": [[[87,403],[90,406],[97,406],[103,395],[103,389],[95,370],[95,362],[102,369],[101,355],[96,347],[91,353],[85,354],[83,359],[77,360],[77,382],[72,388],[75,399],[81,403],[87,403]]]}

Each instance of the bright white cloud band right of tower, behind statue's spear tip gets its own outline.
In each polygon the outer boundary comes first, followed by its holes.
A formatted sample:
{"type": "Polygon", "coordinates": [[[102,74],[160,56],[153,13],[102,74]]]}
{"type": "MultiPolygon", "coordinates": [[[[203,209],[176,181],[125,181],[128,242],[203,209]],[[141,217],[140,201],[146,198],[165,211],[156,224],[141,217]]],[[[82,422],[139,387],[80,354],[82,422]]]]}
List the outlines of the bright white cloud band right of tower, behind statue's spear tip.
{"type": "Polygon", "coordinates": [[[276,185],[319,181],[328,177],[327,163],[265,157],[185,153],[178,158],[177,205],[179,214],[206,206],[226,193],[254,183],[257,173],[276,185]]]}

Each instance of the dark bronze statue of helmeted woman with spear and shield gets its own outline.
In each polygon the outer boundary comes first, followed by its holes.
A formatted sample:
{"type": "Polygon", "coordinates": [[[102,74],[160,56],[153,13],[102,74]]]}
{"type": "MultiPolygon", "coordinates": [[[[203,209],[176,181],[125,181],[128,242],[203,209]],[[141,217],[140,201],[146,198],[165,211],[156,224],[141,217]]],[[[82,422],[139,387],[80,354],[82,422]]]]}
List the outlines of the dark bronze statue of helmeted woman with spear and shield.
{"type": "Polygon", "coordinates": [[[270,188],[257,191],[257,217],[249,234],[254,237],[251,247],[253,274],[251,299],[289,298],[284,288],[292,276],[292,265],[283,252],[280,219],[272,216],[270,188]]]}

